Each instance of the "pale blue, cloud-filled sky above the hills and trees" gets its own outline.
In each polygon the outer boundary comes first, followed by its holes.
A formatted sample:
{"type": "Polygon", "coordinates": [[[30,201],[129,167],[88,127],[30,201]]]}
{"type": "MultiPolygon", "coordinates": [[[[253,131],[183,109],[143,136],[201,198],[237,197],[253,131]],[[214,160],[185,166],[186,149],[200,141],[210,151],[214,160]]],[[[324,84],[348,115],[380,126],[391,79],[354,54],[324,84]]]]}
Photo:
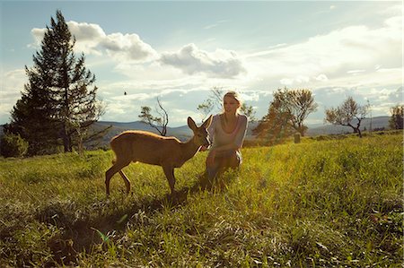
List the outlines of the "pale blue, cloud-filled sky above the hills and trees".
{"type": "Polygon", "coordinates": [[[277,89],[309,89],[319,108],[307,125],[348,96],[372,117],[403,103],[402,1],[0,0],[0,125],[57,9],[96,76],[103,121],[155,114],[159,98],[169,126],[200,122],[214,87],[238,91],[257,118],[277,89]]]}

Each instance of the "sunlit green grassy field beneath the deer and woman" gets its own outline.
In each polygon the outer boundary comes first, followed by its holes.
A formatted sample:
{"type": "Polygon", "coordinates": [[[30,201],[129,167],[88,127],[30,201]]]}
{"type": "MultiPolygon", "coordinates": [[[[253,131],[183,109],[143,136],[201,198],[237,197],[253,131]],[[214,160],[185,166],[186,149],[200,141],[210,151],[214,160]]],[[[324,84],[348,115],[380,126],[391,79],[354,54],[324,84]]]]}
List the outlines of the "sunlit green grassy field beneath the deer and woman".
{"type": "Polygon", "coordinates": [[[206,152],[125,169],[111,151],[0,160],[0,267],[402,267],[401,134],[245,148],[200,190],[206,152]],[[223,185],[222,184],[222,185],[223,185]]]}

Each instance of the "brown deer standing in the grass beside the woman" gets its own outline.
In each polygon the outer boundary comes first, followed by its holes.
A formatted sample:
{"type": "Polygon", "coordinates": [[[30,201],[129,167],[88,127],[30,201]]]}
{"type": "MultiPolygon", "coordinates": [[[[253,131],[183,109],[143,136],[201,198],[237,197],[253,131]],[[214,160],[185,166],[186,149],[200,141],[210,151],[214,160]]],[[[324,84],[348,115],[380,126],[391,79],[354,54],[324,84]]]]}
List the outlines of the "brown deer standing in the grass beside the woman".
{"type": "Polygon", "coordinates": [[[122,171],[131,162],[141,162],[161,166],[167,177],[171,195],[175,194],[174,169],[180,168],[191,159],[201,146],[209,146],[207,128],[212,123],[212,115],[199,127],[195,121],[188,117],[189,128],[193,132],[192,138],[182,143],[175,137],[165,137],[146,131],[125,131],[110,141],[110,148],[114,151],[116,159],[112,161],[112,167],[105,172],[106,194],[110,195],[110,179],[117,172],[124,180],[127,194],[130,192],[130,181],[122,171]]]}

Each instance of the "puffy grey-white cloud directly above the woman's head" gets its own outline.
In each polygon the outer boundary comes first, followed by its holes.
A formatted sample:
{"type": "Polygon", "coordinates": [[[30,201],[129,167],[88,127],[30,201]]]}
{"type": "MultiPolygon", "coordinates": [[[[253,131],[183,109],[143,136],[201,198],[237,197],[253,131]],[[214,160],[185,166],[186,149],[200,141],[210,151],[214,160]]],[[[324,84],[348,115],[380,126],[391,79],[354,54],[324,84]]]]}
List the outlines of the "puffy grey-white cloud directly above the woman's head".
{"type": "Polygon", "coordinates": [[[195,44],[189,44],[177,52],[162,53],[160,62],[187,74],[205,73],[213,77],[233,78],[246,73],[241,58],[234,51],[216,49],[209,53],[195,44]]]}

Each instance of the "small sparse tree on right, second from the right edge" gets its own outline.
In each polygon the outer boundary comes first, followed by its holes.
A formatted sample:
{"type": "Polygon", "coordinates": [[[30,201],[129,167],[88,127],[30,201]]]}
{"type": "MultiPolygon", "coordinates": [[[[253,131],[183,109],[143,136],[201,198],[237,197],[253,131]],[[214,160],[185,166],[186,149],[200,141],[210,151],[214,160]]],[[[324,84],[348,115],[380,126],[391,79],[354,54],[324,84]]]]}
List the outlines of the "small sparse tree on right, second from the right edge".
{"type": "Polygon", "coordinates": [[[368,105],[359,105],[352,97],[347,97],[338,108],[327,108],[325,113],[325,121],[332,125],[345,125],[352,127],[354,133],[362,137],[360,125],[362,120],[366,117],[369,110],[368,105]],[[353,125],[353,120],[356,119],[356,125],[353,125]]]}

